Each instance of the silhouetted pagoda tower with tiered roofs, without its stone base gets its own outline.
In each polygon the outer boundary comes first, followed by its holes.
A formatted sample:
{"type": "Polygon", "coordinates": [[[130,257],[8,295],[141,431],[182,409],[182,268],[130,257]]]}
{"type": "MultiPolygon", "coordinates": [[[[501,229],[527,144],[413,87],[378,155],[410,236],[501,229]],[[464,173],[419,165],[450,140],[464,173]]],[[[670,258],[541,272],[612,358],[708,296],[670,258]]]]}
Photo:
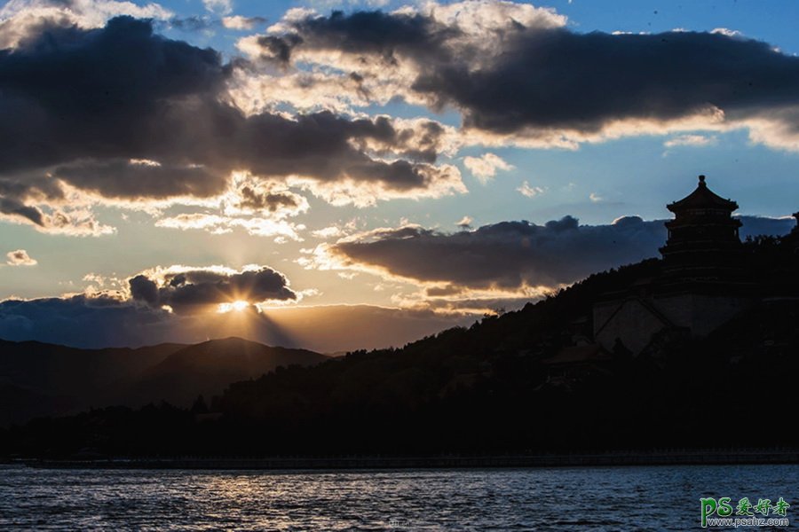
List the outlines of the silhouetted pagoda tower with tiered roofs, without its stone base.
{"type": "Polygon", "coordinates": [[[735,201],[711,191],[705,176],[699,176],[696,190],[666,208],[675,217],[666,222],[668,240],[660,249],[664,281],[712,285],[743,280],[741,223],[732,217],[735,201]]]}

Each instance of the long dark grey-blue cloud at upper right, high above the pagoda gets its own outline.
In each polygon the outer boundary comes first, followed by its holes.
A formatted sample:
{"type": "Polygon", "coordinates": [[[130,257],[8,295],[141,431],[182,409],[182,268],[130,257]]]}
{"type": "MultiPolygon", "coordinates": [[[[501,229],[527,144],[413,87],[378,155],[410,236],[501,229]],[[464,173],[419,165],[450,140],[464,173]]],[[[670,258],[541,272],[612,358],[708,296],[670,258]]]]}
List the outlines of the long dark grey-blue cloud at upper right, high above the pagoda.
{"type": "Polygon", "coordinates": [[[424,72],[415,90],[462,108],[465,124],[501,133],[532,127],[597,131],[610,121],[669,121],[799,102],[799,59],[721,34],[519,31],[498,61],[424,72]]]}

